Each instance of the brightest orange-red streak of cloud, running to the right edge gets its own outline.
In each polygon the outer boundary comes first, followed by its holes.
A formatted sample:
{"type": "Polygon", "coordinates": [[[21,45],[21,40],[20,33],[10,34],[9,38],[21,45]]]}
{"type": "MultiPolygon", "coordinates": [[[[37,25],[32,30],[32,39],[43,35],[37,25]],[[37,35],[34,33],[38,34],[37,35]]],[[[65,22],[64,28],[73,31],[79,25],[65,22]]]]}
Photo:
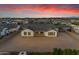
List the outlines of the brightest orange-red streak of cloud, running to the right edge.
{"type": "Polygon", "coordinates": [[[49,12],[49,13],[65,13],[65,14],[79,14],[79,9],[71,9],[71,8],[56,8],[56,7],[18,7],[13,8],[14,11],[20,12],[23,10],[32,10],[37,12],[49,12]]]}

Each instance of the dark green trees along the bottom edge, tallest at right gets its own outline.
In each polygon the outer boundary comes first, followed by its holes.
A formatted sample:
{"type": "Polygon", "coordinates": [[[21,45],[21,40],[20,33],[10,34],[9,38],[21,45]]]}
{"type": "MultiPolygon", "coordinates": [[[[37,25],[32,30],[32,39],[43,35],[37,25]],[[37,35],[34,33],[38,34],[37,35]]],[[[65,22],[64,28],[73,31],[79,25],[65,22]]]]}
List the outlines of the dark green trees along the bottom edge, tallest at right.
{"type": "Polygon", "coordinates": [[[79,55],[76,49],[53,48],[52,52],[27,52],[28,55],[79,55]]]}

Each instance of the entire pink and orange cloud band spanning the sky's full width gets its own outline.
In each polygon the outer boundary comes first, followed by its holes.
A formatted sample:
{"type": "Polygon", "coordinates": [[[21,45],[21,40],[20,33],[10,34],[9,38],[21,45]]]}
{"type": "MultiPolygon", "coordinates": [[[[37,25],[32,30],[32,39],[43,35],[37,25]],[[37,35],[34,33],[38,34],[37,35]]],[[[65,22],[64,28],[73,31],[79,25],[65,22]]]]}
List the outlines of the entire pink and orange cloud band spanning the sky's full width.
{"type": "Polygon", "coordinates": [[[22,11],[31,10],[34,12],[47,12],[48,14],[28,14],[28,15],[35,15],[35,16],[50,16],[53,14],[71,14],[71,15],[79,15],[79,8],[72,7],[72,5],[58,5],[58,4],[37,4],[37,5],[4,5],[0,6],[0,12],[4,12],[6,10],[10,10],[13,14],[19,14],[22,11]]]}

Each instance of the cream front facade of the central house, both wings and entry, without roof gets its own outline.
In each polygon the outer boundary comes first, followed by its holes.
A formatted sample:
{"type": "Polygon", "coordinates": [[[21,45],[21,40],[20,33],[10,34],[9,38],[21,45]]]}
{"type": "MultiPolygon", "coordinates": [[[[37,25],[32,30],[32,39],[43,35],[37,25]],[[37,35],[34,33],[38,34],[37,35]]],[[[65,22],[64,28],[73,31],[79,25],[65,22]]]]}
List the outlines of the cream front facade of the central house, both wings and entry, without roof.
{"type": "Polygon", "coordinates": [[[21,32],[21,36],[23,37],[33,37],[33,36],[46,36],[46,37],[57,37],[57,31],[55,30],[49,30],[46,32],[34,32],[30,29],[25,29],[21,32]]]}

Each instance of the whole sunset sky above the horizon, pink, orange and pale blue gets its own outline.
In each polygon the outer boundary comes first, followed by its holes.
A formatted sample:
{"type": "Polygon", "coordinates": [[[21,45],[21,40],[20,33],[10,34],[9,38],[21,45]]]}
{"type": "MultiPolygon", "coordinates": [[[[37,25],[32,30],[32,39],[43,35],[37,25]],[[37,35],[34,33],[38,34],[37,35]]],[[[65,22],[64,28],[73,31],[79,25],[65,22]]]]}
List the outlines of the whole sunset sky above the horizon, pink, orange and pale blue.
{"type": "Polygon", "coordinates": [[[0,17],[79,17],[79,4],[0,4],[0,17]]]}

